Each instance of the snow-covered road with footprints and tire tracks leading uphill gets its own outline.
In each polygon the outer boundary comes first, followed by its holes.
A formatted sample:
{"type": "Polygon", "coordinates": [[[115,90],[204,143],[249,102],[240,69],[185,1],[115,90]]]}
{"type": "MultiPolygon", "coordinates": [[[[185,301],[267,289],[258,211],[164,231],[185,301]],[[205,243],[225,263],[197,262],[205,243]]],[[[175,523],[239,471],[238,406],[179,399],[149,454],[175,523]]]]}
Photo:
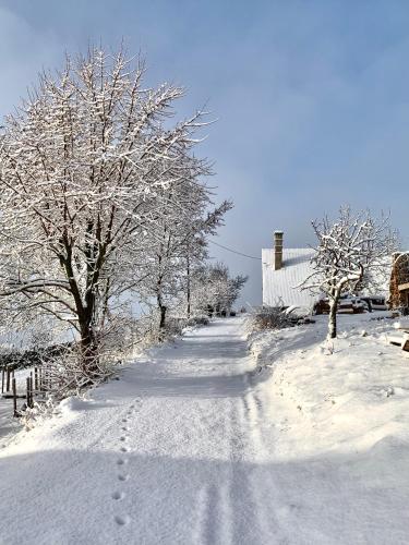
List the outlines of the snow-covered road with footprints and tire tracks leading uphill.
{"type": "Polygon", "coordinates": [[[241,319],[226,319],[65,403],[0,458],[0,542],[279,543],[253,366],[241,319]]]}

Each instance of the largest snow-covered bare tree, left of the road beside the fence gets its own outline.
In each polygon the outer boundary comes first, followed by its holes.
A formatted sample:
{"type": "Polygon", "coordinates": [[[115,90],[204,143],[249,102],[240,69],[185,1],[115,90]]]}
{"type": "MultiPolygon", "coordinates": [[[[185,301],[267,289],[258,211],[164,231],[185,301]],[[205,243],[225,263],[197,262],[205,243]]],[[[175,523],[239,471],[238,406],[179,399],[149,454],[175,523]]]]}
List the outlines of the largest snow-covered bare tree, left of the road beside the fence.
{"type": "MultiPolygon", "coordinates": [[[[0,295],[9,317],[47,313],[98,353],[109,302],[146,278],[163,194],[207,172],[192,153],[201,113],[172,124],[173,85],[146,88],[144,66],[92,49],[44,73],[5,119],[0,149],[0,295]],[[189,175],[187,175],[189,172],[189,175]]],[[[172,206],[188,210],[189,203],[172,206]]]]}

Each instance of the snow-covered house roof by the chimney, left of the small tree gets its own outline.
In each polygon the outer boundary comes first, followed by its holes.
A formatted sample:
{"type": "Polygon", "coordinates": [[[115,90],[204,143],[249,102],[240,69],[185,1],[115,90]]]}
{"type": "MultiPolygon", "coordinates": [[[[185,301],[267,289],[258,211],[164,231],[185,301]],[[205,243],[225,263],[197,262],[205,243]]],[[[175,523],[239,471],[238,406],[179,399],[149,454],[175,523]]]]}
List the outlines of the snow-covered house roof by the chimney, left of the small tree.
{"type": "Polygon", "coordinates": [[[285,306],[311,306],[316,296],[294,287],[312,272],[313,255],[314,251],[309,247],[284,249],[282,268],[274,270],[274,249],[263,249],[263,304],[275,306],[281,299],[285,306]]]}

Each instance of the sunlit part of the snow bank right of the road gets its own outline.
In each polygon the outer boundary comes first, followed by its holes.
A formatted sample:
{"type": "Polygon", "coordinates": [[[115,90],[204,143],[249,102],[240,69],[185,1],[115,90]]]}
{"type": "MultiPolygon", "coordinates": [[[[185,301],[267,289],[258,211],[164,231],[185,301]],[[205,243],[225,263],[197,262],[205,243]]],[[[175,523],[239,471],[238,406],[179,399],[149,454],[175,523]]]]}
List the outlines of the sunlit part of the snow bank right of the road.
{"type": "Polygon", "coordinates": [[[258,386],[268,413],[291,429],[282,456],[368,452],[387,438],[409,439],[409,354],[387,344],[393,320],[339,319],[334,343],[324,340],[325,317],[252,340],[263,373],[273,370],[258,386]]]}

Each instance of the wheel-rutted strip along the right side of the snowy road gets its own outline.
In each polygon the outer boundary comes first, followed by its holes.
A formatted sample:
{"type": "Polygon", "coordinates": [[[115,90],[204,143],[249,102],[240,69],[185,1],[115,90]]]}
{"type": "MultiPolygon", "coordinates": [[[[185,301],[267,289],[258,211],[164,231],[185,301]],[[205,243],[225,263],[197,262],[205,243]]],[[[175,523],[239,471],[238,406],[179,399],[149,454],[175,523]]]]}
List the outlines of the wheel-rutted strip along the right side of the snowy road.
{"type": "MultiPolygon", "coordinates": [[[[285,543],[268,501],[270,477],[263,481],[265,471],[254,463],[265,452],[260,429],[263,407],[252,389],[249,373],[244,372],[241,379],[242,395],[226,398],[225,417],[218,423],[222,428],[222,437],[219,432],[218,439],[226,443],[228,462],[214,482],[197,493],[194,543],[201,545],[285,543]]],[[[203,417],[205,422],[208,420],[206,414],[203,417]]]]}

